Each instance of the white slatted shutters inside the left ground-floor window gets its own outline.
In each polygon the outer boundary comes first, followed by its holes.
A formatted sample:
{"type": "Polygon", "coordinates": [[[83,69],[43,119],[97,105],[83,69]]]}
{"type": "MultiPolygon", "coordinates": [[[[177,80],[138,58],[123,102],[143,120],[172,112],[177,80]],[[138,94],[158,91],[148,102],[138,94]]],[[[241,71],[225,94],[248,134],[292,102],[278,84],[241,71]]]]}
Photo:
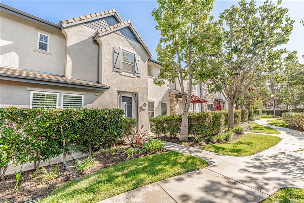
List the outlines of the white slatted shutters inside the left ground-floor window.
{"type": "Polygon", "coordinates": [[[57,94],[33,93],[33,108],[57,108],[57,94]]]}

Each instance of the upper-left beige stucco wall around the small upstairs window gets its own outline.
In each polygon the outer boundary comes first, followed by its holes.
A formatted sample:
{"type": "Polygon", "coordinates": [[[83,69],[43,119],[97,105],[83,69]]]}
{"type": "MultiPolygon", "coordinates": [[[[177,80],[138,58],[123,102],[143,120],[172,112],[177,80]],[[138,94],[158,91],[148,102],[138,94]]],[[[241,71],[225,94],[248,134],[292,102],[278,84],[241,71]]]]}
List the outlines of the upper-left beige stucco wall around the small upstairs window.
{"type": "Polygon", "coordinates": [[[64,75],[65,37],[60,30],[5,11],[1,11],[0,21],[1,66],[64,75]],[[35,28],[52,34],[48,54],[34,51],[37,49],[39,32],[35,28]]]}

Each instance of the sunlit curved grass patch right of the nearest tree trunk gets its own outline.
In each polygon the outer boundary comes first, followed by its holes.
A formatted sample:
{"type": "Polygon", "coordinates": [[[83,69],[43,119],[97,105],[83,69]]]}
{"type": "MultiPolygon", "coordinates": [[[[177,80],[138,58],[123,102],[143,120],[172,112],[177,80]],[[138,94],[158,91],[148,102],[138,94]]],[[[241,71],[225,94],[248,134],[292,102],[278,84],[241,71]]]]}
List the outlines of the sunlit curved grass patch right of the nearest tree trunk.
{"type": "Polygon", "coordinates": [[[278,144],[280,137],[247,133],[231,142],[201,146],[200,149],[230,156],[250,156],[278,144]]]}

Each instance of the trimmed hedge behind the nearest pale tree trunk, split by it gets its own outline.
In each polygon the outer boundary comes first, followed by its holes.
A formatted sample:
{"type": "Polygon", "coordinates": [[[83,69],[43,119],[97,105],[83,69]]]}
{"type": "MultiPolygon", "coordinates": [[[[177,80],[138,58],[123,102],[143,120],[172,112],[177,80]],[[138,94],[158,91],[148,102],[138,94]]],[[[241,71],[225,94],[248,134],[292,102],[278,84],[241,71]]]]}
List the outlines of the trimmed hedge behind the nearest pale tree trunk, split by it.
{"type": "MultiPolygon", "coordinates": [[[[149,119],[150,131],[159,137],[168,133],[176,137],[181,131],[182,115],[155,116],[149,119]]],[[[224,116],[217,112],[189,113],[188,133],[199,136],[213,135],[224,127],[224,116]]]]}

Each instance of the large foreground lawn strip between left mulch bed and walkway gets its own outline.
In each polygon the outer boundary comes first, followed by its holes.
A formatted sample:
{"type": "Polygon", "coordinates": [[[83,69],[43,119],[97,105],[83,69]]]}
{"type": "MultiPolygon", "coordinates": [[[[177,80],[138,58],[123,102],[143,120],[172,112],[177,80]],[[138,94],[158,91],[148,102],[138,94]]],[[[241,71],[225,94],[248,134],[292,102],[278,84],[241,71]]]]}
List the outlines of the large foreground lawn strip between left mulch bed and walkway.
{"type": "Polygon", "coordinates": [[[166,178],[207,167],[206,161],[169,151],[115,164],[73,180],[41,202],[97,202],[166,178]]]}

